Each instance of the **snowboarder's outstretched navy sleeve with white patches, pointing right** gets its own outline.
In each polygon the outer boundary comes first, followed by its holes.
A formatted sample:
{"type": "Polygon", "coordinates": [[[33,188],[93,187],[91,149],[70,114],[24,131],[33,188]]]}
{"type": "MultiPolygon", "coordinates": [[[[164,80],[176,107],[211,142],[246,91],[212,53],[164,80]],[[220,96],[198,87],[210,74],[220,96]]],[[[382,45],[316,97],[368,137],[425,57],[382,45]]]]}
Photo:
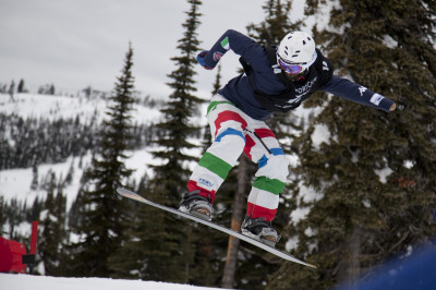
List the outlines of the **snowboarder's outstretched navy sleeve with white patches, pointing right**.
{"type": "Polygon", "coordinates": [[[336,75],[320,90],[386,112],[389,112],[391,106],[395,104],[392,100],[374,93],[363,85],[336,75]]]}

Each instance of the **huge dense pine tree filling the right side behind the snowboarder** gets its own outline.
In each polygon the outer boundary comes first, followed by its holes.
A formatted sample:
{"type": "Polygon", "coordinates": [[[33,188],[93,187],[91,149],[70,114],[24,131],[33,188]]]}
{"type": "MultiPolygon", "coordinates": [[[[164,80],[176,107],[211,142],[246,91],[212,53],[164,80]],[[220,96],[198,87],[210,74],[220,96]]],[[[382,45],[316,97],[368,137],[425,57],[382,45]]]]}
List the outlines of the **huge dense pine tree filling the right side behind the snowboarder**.
{"type": "MultiPolygon", "coordinates": [[[[311,1],[316,13],[320,1],[311,1]]],[[[295,192],[310,209],[295,221],[296,252],[319,265],[283,265],[271,289],[330,288],[353,280],[435,233],[435,5],[431,1],[341,1],[328,29],[315,32],[336,73],[397,101],[389,114],[337,97],[295,143],[302,182],[295,192]],[[329,137],[314,144],[318,130],[329,137]],[[283,274],[293,273],[286,277],[283,274]]],[[[319,132],[319,131],[318,131],[319,132]]]]}

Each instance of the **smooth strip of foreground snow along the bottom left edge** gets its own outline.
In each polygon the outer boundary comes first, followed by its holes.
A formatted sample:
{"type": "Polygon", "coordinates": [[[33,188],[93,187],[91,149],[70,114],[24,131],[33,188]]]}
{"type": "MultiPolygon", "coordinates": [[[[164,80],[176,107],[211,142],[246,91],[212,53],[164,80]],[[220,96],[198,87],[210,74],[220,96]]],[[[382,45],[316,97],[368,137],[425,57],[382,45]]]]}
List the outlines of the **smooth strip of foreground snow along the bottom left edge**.
{"type": "Polygon", "coordinates": [[[107,278],[55,278],[48,276],[31,276],[0,273],[1,290],[202,290],[218,289],[177,285],[156,281],[122,280],[107,278]]]}

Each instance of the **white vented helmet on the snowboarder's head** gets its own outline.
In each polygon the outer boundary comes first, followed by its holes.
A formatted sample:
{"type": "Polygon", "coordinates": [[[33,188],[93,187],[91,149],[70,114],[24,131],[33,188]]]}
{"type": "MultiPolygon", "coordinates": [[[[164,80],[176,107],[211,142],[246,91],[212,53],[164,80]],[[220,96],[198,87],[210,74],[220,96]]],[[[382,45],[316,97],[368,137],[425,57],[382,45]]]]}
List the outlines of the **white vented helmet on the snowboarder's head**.
{"type": "Polygon", "coordinates": [[[315,40],[303,32],[289,33],[280,41],[277,57],[286,63],[308,68],[316,60],[315,40]]]}

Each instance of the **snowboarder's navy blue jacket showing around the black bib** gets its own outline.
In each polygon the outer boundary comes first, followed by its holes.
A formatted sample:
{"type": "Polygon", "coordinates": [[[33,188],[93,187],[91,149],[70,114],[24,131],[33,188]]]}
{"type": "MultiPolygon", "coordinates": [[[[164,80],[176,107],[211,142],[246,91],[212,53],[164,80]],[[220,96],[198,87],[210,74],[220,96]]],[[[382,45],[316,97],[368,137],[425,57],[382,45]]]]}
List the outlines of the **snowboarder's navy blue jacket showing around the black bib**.
{"type": "MultiPolygon", "coordinates": [[[[287,90],[286,85],[276,76],[264,47],[252,38],[232,29],[227,31],[206,53],[204,57],[205,64],[209,68],[215,68],[219,59],[229,49],[243,57],[251,64],[253,81],[258,90],[268,95],[280,95],[287,90]]],[[[324,58],[323,56],[320,57],[324,58]]],[[[310,70],[313,70],[313,67],[310,70]]],[[[332,70],[332,67],[329,65],[328,68],[332,70]]],[[[362,85],[335,75],[327,83],[316,87],[311,85],[311,80],[301,80],[292,84],[295,87],[298,97],[304,96],[306,98],[316,90],[323,90],[387,112],[393,104],[392,100],[362,85]]],[[[271,110],[264,108],[257,101],[245,73],[230,80],[218,90],[218,94],[235,104],[242,111],[256,120],[266,120],[272,113],[271,110]]],[[[294,99],[291,99],[291,101],[294,101],[294,99]]]]}

